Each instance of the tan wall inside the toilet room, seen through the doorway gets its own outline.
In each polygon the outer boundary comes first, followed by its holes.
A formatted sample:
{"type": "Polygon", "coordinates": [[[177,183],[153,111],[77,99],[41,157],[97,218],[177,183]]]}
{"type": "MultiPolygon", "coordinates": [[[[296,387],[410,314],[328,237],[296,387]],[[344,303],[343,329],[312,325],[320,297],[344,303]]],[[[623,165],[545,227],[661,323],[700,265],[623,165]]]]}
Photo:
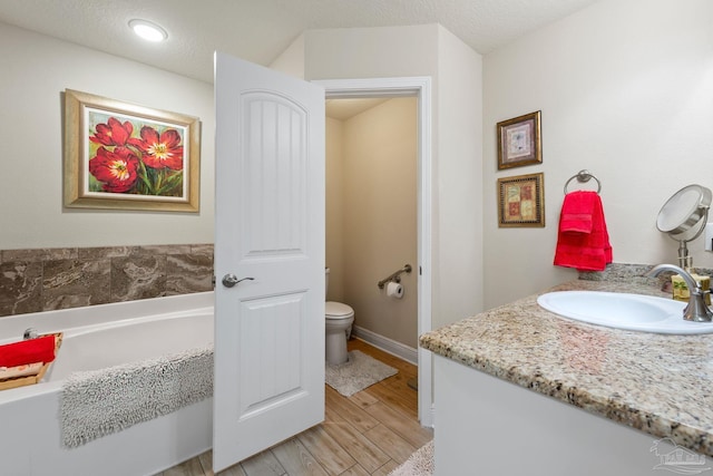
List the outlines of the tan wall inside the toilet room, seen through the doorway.
{"type": "MultiPolygon", "coordinates": [[[[416,269],[417,99],[390,99],[343,122],[342,137],[341,190],[328,182],[333,192],[328,203],[342,204],[339,216],[328,204],[328,259],[332,249],[342,249],[341,268],[328,261],[335,281],[343,282],[342,299],[334,299],[354,309],[355,326],[417,348],[416,273],[402,275],[403,299],[388,298],[377,286],[407,263],[416,269]],[[329,233],[332,220],[342,226],[335,236],[329,233]]],[[[333,168],[332,157],[328,164],[333,168]]]]}

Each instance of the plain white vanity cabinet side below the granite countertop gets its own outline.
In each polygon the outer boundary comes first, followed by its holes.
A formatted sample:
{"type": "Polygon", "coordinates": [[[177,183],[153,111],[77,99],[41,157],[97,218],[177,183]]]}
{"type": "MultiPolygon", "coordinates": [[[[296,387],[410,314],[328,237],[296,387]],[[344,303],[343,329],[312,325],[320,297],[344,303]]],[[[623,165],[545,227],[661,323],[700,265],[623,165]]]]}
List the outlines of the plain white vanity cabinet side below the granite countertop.
{"type": "MultiPolygon", "coordinates": [[[[436,476],[661,475],[674,450],[666,441],[652,450],[658,438],[445,357],[434,369],[436,476]]],[[[701,457],[702,469],[713,466],[701,457]]]]}

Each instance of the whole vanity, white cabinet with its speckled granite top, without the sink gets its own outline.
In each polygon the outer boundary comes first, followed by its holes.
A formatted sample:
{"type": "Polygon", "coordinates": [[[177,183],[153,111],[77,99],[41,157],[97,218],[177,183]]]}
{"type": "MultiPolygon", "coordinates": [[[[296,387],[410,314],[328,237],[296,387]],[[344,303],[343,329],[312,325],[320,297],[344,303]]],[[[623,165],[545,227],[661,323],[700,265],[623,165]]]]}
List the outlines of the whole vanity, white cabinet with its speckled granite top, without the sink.
{"type": "MultiPolygon", "coordinates": [[[[577,280],[553,291],[664,295],[577,280]]],[[[437,476],[713,476],[713,334],[625,331],[531,295],[420,337],[437,476]]]]}

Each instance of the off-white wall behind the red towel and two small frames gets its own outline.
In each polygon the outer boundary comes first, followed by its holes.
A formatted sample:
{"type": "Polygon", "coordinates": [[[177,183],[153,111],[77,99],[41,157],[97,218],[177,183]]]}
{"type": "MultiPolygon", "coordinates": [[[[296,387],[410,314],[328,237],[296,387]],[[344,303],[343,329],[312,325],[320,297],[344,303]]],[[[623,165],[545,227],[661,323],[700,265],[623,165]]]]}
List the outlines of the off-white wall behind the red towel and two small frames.
{"type": "MultiPolygon", "coordinates": [[[[614,261],[674,263],[655,227],[681,187],[713,187],[713,2],[605,0],[484,61],[486,308],[569,280],[553,265],[565,182],[602,181],[614,261]],[[499,120],[543,111],[541,165],[496,172],[499,120]],[[545,229],[498,229],[496,179],[545,173],[545,229]]],[[[703,239],[694,264],[711,268],[703,239]]]]}

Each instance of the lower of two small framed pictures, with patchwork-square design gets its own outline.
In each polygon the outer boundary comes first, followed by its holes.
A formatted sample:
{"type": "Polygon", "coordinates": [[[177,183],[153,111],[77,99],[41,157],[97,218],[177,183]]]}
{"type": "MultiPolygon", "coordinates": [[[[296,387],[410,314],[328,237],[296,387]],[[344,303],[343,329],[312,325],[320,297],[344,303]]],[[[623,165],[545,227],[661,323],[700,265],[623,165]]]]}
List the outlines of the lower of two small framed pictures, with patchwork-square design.
{"type": "Polygon", "coordinates": [[[545,174],[498,178],[498,226],[545,226],[545,174]]]}

